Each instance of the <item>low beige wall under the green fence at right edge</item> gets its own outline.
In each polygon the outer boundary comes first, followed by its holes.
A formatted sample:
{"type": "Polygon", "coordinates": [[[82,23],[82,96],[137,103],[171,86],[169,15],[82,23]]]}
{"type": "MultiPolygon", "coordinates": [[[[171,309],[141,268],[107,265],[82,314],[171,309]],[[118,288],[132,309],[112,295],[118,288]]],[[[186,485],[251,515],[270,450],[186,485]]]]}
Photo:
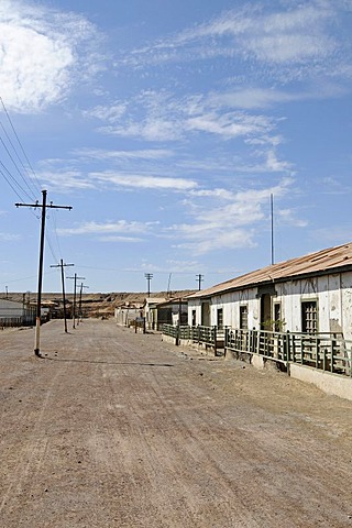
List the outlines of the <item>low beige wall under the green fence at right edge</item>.
{"type": "Polygon", "coordinates": [[[297,365],[290,363],[289,375],[301,382],[308,382],[316,385],[320,391],[327,394],[339,396],[340,398],[350,399],[352,402],[352,378],[342,377],[338,374],[317,371],[309,366],[297,365]]]}

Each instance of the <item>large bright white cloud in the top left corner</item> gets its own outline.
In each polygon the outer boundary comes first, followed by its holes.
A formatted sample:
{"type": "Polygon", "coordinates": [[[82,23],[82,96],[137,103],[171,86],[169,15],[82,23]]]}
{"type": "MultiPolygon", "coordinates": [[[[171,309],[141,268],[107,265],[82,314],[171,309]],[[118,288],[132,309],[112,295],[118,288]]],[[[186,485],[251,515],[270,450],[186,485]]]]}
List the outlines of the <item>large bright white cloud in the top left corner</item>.
{"type": "Polygon", "coordinates": [[[94,35],[94,26],[77,14],[2,0],[0,86],[4,103],[33,113],[62,100],[78,74],[89,75],[97,67],[90,61],[94,35]],[[81,45],[86,53],[80,56],[81,45]]]}

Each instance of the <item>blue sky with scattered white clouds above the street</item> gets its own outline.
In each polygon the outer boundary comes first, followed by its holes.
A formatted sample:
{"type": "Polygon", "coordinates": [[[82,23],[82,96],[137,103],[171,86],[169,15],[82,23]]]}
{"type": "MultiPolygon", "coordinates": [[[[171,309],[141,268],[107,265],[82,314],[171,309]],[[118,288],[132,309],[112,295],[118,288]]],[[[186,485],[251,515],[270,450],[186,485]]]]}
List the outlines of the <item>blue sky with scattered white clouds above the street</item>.
{"type": "Polygon", "coordinates": [[[61,258],[90,292],[265,266],[271,195],[275,262],[351,241],[351,0],[1,0],[0,290],[36,289],[42,189],[73,207],[46,292],[61,258]]]}

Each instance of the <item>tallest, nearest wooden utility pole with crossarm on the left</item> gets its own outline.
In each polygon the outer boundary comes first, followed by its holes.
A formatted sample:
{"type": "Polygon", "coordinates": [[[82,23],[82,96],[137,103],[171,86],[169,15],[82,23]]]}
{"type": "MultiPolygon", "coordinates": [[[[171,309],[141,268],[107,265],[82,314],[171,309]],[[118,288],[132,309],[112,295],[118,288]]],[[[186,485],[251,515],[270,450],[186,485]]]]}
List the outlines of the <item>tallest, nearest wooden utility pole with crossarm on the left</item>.
{"type": "Polygon", "coordinates": [[[44,263],[44,240],[45,240],[45,218],[46,209],[68,209],[72,210],[72,206],[54,206],[51,201],[46,204],[47,190],[42,190],[43,201],[40,205],[35,204],[15,204],[15,207],[34,207],[34,209],[42,208],[42,223],[41,223],[41,242],[40,242],[40,264],[37,274],[37,298],[36,298],[36,326],[35,326],[35,344],[34,353],[37,358],[41,358],[40,343],[41,343],[41,308],[42,308],[42,286],[43,286],[43,263],[44,263]]]}

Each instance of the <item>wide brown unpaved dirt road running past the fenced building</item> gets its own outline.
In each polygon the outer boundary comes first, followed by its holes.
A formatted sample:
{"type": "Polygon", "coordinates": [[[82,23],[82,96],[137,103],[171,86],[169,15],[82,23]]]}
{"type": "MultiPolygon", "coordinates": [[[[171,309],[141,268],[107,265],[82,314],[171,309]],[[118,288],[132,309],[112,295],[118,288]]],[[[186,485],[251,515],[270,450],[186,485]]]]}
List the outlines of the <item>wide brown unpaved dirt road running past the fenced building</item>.
{"type": "Polygon", "coordinates": [[[352,527],[350,402],[113,321],[63,330],[46,359],[0,332],[1,528],[352,527]]]}

